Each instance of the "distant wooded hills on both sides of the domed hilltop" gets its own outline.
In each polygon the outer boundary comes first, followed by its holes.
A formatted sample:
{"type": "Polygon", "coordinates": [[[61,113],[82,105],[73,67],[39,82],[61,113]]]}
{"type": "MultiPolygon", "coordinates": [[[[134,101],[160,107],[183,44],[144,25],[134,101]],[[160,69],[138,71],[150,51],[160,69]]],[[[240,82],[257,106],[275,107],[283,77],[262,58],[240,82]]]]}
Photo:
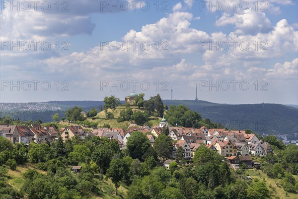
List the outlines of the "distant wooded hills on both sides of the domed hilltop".
{"type": "MultiPolygon", "coordinates": [[[[121,101],[124,103],[124,101],[121,101]]],[[[92,107],[99,109],[104,105],[103,101],[48,101],[59,107],[59,111],[17,111],[11,115],[21,120],[37,120],[39,117],[43,122],[53,120],[55,112],[60,117],[69,107],[81,106],[85,111],[92,107]]],[[[188,106],[191,110],[199,112],[203,118],[209,118],[216,123],[222,123],[230,129],[251,129],[261,135],[264,134],[293,134],[298,133],[298,108],[297,105],[263,104],[220,104],[203,100],[163,100],[164,104],[188,106]]],[[[1,111],[3,117],[9,112],[1,111]]]]}

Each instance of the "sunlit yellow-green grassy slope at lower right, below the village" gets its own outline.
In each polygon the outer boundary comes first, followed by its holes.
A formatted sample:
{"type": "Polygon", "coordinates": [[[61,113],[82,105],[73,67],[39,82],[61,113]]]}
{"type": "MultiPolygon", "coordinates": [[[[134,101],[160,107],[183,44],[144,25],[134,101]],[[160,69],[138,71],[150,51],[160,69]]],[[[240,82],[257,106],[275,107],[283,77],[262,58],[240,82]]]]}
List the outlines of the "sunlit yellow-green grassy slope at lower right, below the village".
{"type": "MultiPolygon", "coordinates": [[[[270,192],[272,192],[272,196],[278,196],[280,197],[280,199],[298,199],[298,194],[288,193],[288,196],[286,196],[286,191],[282,188],[280,179],[269,178],[261,170],[256,169],[246,170],[245,173],[248,174],[252,179],[265,179],[267,188],[270,192]]],[[[298,180],[298,176],[294,177],[296,178],[296,180],[298,180]]]]}

